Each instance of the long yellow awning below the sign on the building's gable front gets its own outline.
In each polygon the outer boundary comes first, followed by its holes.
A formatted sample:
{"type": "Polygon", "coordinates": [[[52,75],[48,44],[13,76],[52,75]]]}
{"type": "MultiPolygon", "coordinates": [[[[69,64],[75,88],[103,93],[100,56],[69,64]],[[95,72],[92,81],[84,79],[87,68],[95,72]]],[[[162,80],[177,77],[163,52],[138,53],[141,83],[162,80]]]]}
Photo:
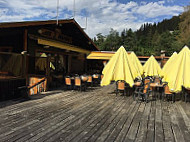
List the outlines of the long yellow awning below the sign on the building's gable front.
{"type": "Polygon", "coordinates": [[[85,49],[82,49],[77,46],[65,44],[65,43],[62,43],[59,41],[42,39],[42,38],[38,38],[38,44],[48,45],[48,46],[52,46],[52,47],[56,47],[56,48],[60,48],[60,49],[65,49],[65,50],[70,50],[70,51],[75,51],[75,52],[80,52],[80,53],[85,53],[85,54],[90,53],[89,50],[85,50],[85,49]]]}

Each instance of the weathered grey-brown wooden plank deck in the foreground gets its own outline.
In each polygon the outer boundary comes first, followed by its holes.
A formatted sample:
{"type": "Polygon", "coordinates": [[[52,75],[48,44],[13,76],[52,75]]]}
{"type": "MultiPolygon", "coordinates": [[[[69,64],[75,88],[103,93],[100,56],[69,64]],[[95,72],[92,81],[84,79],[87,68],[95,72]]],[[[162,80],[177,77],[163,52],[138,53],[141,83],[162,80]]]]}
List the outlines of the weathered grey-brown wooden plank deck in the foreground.
{"type": "Polygon", "coordinates": [[[190,141],[190,103],[137,103],[115,96],[114,87],[62,91],[1,107],[0,141],[190,141]]]}

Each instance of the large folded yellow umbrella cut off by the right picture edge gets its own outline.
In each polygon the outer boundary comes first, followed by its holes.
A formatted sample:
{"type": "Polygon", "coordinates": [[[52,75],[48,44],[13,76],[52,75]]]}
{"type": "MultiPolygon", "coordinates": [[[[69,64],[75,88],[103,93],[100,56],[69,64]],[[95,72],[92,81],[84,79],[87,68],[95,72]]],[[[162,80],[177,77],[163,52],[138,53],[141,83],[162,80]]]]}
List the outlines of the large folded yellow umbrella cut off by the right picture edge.
{"type": "Polygon", "coordinates": [[[182,86],[190,88],[190,50],[185,46],[177,55],[175,64],[171,66],[171,71],[168,72],[164,80],[168,82],[171,92],[180,92],[182,86]]]}

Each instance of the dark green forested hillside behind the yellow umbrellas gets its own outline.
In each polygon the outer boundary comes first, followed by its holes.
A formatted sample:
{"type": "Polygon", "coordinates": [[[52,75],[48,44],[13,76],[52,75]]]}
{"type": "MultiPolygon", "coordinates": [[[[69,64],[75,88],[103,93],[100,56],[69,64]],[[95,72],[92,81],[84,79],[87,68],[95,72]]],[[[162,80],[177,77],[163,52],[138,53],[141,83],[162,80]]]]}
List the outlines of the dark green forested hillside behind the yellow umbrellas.
{"type": "Polygon", "coordinates": [[[111,29],[108,35],[99,33],[93,40],[100,50],[116,51],[123,45],[137,55],[160,55],[160,51],[165,50],[170,56],[185,44],[190,46],[190,6],[179,16],[159,23],[146,23],[137,31],[123,29],[119,33],[111,29]]]}

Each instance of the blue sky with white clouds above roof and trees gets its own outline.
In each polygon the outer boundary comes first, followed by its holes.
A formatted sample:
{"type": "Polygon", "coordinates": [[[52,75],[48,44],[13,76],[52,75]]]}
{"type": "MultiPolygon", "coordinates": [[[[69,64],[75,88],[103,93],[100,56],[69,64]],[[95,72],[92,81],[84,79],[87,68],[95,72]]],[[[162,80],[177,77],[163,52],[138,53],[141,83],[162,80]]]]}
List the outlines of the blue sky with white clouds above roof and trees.
{"type": "Polygon", "coordinates": [[[190,0],[0,0],[0,22],[55,20],[57,5],[59,19],[75,18],[93,38],[111,28],[137,30],[143,23],[169,19],[190,0]]]}

